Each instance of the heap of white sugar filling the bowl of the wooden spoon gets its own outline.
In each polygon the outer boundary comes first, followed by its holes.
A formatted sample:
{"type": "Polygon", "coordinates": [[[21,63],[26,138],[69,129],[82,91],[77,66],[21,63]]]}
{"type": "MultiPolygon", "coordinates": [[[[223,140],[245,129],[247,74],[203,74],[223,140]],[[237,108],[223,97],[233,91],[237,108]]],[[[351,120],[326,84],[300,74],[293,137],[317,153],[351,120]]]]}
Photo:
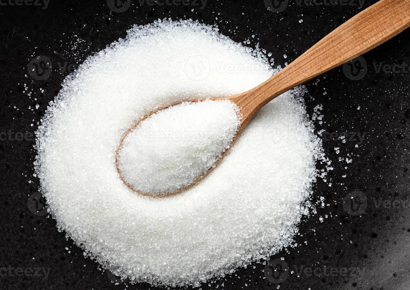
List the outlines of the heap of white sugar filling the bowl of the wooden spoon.
{"type": "Polygon", "coordinates": [[[230,100],[183,102],[132,129],[118,151],[118,170],[140,193],[173,193],[206,173],[232,143],[240,125],[230,100]]]}

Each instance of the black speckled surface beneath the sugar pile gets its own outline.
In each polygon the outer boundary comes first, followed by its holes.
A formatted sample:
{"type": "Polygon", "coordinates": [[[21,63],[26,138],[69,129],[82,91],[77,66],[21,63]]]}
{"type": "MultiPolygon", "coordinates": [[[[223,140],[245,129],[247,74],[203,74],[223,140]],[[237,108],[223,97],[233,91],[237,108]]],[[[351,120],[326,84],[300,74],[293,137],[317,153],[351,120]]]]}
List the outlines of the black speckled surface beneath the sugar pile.
{"type": "MultiPolygon", "coordinates": [[[[145,2],[140,5],[134,0],[123,13],[111,11],[104,0],[52,0],[46,9],[44,5],[1,2],[6,5],[0,5],[0,267],[7,270],[0,271],[0,288],[153,289],[148,284],[114,285],[97,263],[84,258],[82,250],[72,240],[67,241],[65,233],[57,231],[54,220],[33,214],[27,207],[29,196],[36,194],[39,186],[38,179],[32,177],[36,152],[31,134],[48,102],[57,95],[64,77],[70,73],[68,69],[60,70],[59,64],[76,67],[85,57],[124,38],[126,29],[133,24],[145,25],[171,17],[217,24],[222,34],[237,42],[255,35],[249,46],[259,42],[261,48],[273,53],[275,66],[284,66],[285,61],[296,59],[338,25],[375,2],[365,0],[361,8],[358,1],[354,2],[355,6],[308,6],[296,5],[291,0],[280,13],[268,11],[263,0],[208,0],[203,9],[201,5],[151,6],[145,2]],[[77,38],[84,42],[72,50],[77,38]],[[287,59],[283,54],[287,54],[287,59]],[[32,79],[27,73],[30,60],[40,55],[49,57],[53,68],[50,77],[43,81],[32,79]],[[28,89],[23,93],[25,84],[28,89]],[[39,109],[29,109],[36,104],[40,105],[39,109]],[[21,138],[21,134],[25,137],[21,138]],[[9,272],[10,268],[18,267],[40,267],[50,272],[47,279],[44,274],[17,276],[14,270],[9,272]]],[[[373,66],[373,62],[409,64],[409,37],[410,30],[404,31],[364,54],[368,71],[361,80],[348,79],[339,67],[326,73],[326,78],[319,77],[319,83],[312,80],[306,84],[307,112],[312,114],[314,106],[323,104],[325,123],[318,129],[337,132],[337,136],[341,132],[355,132],[365,134],[365,138],[357,148],[355,145],[360,143],[357,137],[348,136],[345,143],[340,139],[323,140],[325,152],[333,161],[332,186],[319,180],[314,186],[314,200],[323,196],[325,207],[319,204],[317,215],[302,222],[296,248],[289,247],[289,252],[281,251],[272,259],[284,258],[290,270],[294,265],[298,269],[333,267],[337,274],[298,277],[287,272],[287,279],[275,284],[264,279],[262,263],[253,263],[211,287],[202,285],[202,289],[215,289],[216,285],[227,290],[277,289],[278,285],[280,289],[410,287],[406,246],[410,221],[405,203],[409,196],[410,76],[408,69],[404,73],[376,73],[373,66]],[[340,148],[339,154],[335,153],[335,147],[340,148]],[[339,156],[343,158],[340,162],[339,156]],[[352,163],[346,163],[346,157],[353,159],[352,163]],[[344,174],[346,177],[342,177],[344,174]],[[344,197],[354,191],[366,196],[367,208],[362,215],[349,215],[344,210],[344,197]],[[394,208],[378,206],[380,198],[401,204],[394,208]],[[319,217],[325,215],[328,218],[320,222],[319,217]],[[344,267],[358,267],[364,272],[341,274],[344,267]]]]}

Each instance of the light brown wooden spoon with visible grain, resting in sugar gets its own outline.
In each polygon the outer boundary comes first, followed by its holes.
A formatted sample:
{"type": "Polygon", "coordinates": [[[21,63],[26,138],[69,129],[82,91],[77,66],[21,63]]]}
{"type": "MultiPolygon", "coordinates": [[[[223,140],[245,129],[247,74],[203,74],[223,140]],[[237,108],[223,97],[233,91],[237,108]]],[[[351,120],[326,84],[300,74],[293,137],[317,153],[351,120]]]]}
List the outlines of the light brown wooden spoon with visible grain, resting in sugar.
{"type": "MultiPolygon", "coordinates": [[[[259,86],[244,93],[213,100],[231,100],[241,109],[243,118],[241,119],[241,126],[236,135],[238,136],[255,113],[278,95],[281,95],[282,93],[289,91],[289,89],[317,77],[346,61],[358,57],[364,52],[367,52],[391,39],[409,26],[410,0],[381,0],[337,27],[295,61],[259,86]]],[[[193,100],[190,102],[198,101],[202,100],[193,100]]],[[[175,105],[177,104],[173,104],[172,106],[175,105]]],[[[124,138],[147,117],[140,120],[128,130],[124,138]]],[[[132,186],[127,184],[118,168],[118,152],[124,138],[121,140],[117,149],[117,171],[123,182],[130,189],[140,193],[138,190],[135,190],[132,186]]],[[[222,154],[222,157],[225,153],[226,151],[222,154]]],[[[221,158],[216,161],[216,163],[218,163],[221,158]]],[[[210,172],[210,170],[212,170],[212,168],[213,167],[203,174],[203,176],[196,179],[192,184],[202,179],[208,172],[210,172]]],[[[189,186],[192,186],[192,184],[189,186]]],[[[186,189],[189,186],[182,188],[181,190],[186,189]]],[[[175,194],[181,190],[159,195],[175,194]]],[[[146,195],[144,193],[140,194],[146,195]]]]}

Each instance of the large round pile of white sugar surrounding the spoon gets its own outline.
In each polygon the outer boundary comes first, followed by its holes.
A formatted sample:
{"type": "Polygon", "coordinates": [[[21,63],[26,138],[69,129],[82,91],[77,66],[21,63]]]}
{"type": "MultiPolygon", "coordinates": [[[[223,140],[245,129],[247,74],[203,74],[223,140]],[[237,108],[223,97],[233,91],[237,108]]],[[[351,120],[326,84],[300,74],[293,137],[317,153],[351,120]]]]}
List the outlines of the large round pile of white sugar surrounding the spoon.
{"type": "Polygon", "coordinates": [[[115,163],[125,132],[149,113],[241,93],[273,73],[260,50],[190,20],[134,26],[89,57],[37,132],[35,169],[58,229],[114,274],[151,285],[199,286],[288,247],[325,161],[303,90],[264,106],[180,194],[136,194],[115,163]]]}

